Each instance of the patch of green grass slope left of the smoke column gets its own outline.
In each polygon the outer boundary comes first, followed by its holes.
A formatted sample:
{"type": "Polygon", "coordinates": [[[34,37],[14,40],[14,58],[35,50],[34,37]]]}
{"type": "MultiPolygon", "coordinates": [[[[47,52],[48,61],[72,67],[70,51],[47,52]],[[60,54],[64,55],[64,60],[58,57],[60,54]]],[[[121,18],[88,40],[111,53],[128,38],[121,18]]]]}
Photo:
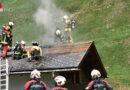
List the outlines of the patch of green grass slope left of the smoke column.
{"type": "Polygon", "coordinates": [[[9,21],[14,22],[13,42],[31,42],[39,38],[37,34],[40,30],[33,18],[39,0],[3,0],[1,3],[5,12],[0,14],[0,27],[9,21]]]}

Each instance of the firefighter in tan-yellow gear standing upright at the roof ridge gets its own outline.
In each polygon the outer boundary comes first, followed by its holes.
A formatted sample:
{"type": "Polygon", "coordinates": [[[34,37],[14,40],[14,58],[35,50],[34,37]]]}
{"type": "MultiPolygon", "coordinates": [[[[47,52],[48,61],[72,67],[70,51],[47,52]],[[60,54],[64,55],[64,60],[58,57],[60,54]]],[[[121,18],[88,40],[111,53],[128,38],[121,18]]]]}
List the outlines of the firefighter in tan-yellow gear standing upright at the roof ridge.
{"type": "Polygon", "coordinates": [[[66,34],[66,42],[73,43],[73,39],[71,36],[72,31],[72,22],[71,19],[68,16],[64,16],[65,21],[65,34],[66,34]]]}

